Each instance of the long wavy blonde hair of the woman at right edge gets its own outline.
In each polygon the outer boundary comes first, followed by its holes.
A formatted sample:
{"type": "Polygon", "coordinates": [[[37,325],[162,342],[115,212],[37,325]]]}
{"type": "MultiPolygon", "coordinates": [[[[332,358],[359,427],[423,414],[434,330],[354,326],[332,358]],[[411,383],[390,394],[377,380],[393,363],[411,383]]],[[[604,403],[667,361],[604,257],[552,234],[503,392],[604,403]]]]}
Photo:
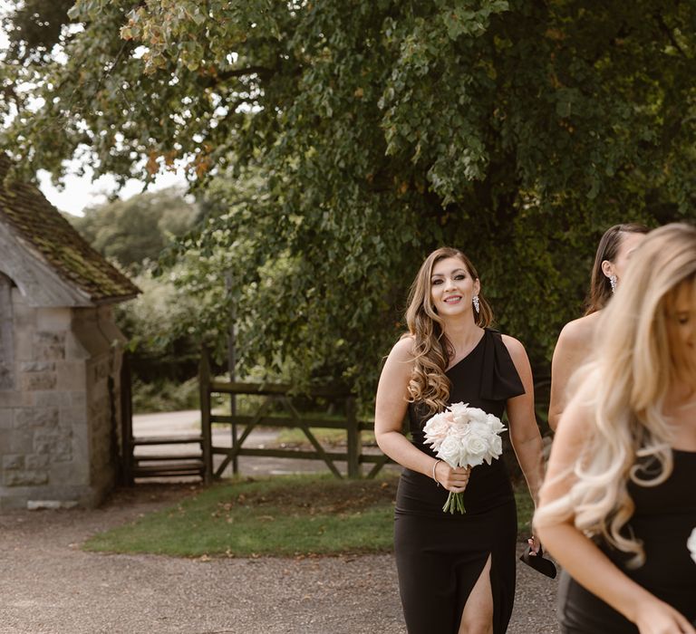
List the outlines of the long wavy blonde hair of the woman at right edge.
{"type": "Polygon", "coordinates": [[[674,223],[647,235],[602,313],[594,356],[574,378],[573,402],[589,428],[572,474],[562,476],[574,482],[535,515],[536,526],[574,518],[579,530],[632,553],[633,567],[645,554],[623,530],[634,510],[627,485],[660,485],[672,474],[664,399],[675,380],[696,389],[696,360],[683,350],[674,317],[682,291],[696,308],[696,227],[674,223]]]}

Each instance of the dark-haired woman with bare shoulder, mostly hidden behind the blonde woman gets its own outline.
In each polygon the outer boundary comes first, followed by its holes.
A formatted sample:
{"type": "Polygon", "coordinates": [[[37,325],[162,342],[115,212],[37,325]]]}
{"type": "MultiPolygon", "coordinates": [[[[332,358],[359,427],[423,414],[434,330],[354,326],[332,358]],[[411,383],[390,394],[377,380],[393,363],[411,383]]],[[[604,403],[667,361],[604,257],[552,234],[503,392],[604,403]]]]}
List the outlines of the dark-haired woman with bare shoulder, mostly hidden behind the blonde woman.
{"type": "Polygon", "coordinates": [[[609,302],[626,271],[633,252],[641,244],[646,226],[625,223],[609,227],[602,236],[594,256],[594,266],[585,315],[565,324],[556,342],[551,362],[551,401],[548,426],[556,430],[565,407],[568,379],[592,349],[594,328],[600,311],[609,302]]]}

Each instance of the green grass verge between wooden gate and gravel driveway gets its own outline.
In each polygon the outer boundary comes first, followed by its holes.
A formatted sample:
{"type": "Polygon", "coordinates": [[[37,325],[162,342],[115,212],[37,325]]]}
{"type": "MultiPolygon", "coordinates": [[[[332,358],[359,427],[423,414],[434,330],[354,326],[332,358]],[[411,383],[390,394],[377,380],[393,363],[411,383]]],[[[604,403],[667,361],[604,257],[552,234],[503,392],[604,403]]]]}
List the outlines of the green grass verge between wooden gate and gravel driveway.
{"type": "MultiPolygon", "coordinates": [[[[93,536],[92,552],[256,557],[391,552],[398,477],[275,476],[211,486],[195,497],[93,536]]],[[[531,502],[518,493],[520,533],[531,502]]]]}

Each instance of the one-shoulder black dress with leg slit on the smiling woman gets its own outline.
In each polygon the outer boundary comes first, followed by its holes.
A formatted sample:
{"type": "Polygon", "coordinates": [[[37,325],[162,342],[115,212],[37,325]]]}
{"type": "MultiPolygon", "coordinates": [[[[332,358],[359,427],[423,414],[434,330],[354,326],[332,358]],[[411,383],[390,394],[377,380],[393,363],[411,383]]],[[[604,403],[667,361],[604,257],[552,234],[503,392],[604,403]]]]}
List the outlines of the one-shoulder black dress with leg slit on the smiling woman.
{"type": "MultiPolygon", "coordinates": [[[[497,331],[486,330],[469,355],[447,371],[450,403],[469,403],[501,418],[507,399],[525,393],[497,331]]],[[[430,414],[409,407],[412,443],[423,445],[430,414]]],[[[515,598],[517,509],[502,459],[471,469],[466,514],[443,513],[448,491],[429,476],[404,469],[396,496],[394,547],[399,589],[410,634],[456,634],[469,593],[488,556],[493,631],[502,634],[515,598]]]]}

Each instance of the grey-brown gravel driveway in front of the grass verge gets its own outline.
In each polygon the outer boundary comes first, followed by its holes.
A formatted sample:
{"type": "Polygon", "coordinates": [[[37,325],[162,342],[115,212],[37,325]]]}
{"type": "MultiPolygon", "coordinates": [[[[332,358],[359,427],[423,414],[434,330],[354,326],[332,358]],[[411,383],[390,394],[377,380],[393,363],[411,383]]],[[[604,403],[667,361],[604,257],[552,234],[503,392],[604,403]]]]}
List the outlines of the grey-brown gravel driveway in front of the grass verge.
{"type": "MultiPolygon", "coordinates": [[[[393,557],[176,559],[82,552],[90,535],[191,494],[122,489],[96,510],[0,515],[3,634],[401,634],[393,557]]],[[[520,544],[520,548],[522,545],[520,544]]],[[[510,634],[552,634],[556,581],[518,564],[510,634]]]]}

